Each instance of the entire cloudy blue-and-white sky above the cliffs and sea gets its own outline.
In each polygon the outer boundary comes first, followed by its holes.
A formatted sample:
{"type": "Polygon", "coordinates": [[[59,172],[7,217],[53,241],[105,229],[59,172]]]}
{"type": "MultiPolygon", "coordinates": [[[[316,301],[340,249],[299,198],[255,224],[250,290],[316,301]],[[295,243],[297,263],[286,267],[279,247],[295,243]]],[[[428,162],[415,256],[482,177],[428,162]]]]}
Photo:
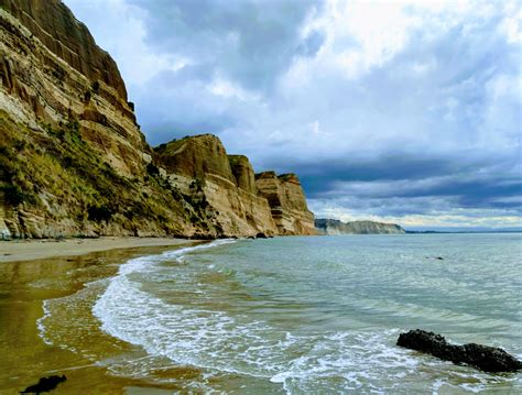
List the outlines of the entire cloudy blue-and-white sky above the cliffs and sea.
{"type": "Polygon", "coordinates": [[[518,1],[64,2],[152,145],[216,134],[318,218],[522,226],[518,1]]]}

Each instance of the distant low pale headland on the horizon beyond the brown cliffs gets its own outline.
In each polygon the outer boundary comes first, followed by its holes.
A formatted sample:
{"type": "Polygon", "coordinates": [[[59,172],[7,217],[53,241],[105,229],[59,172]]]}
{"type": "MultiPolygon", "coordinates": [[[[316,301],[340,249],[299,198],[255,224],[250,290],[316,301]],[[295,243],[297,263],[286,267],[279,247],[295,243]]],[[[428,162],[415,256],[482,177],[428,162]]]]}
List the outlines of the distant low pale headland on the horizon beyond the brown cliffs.
{"type": "Polygon", "coordinates": [[[342,222],[337,219],[316,219],[320,234],[402,234],[405,230],[395,223],[373,221],[342,222]]]}

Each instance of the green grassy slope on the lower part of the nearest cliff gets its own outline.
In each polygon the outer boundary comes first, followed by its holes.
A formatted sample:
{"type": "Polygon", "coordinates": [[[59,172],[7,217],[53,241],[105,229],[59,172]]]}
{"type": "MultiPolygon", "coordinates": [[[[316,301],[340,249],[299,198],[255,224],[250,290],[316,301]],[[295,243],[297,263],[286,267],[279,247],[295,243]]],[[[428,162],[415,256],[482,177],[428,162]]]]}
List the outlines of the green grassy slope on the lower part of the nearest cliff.
{"type": "Polygon", "coordinates": [[[81,139],[77,122],[30,130],[0,111],[0,190],[9,208],[29,208],[50,221],[113,221],[138,233],[149,222],[180,234],[191,213],[157,175],[127,178],[81,139]]]}

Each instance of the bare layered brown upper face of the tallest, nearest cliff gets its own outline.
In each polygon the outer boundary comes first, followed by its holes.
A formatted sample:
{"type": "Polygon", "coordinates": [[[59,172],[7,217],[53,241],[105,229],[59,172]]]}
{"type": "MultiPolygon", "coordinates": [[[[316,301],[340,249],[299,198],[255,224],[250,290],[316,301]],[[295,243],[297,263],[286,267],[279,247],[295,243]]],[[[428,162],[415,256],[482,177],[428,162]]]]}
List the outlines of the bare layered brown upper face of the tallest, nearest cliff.
{"type": "Polygon", "coordinates": [[[116,63],[87,28],[61,1],[0,6],[0,109],[33,130],[78,122],[97,154],[140,175],[146,143],[116,63]]]}

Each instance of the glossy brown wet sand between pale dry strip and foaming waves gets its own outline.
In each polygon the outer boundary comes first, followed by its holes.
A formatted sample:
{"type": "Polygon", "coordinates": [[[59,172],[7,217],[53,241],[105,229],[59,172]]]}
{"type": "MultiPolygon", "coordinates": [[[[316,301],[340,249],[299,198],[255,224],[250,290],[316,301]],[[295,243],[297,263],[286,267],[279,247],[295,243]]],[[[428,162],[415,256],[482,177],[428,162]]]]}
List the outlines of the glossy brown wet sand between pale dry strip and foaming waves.
{"type": "MultiPolygon", "coordinates": [[[[59,245],[57,246],[59,248],[59,245]]],[[[37,321],[44,315],[46,299],[64,298],[81,290],[87,283],[115,275],[119,264],[139,256],[173,250],[175,248],[139,248],[96,252],[72,257],[35,260],[30,262],[4,262],[0,264],[0,392],[18,393],[34,384],[40,377],[65,374],[67,382],[55,391],[59,393],[167,393],[172,389],[146,388],[139,380],[117,377],[96,361],[73,350],[46,344],[40,333],[37,321]],[[145,389],[146,388],[146,389],[145,389]]],[[[102,283],[102,282],[101,282],[102,283]]],[[[100,287],[104,284],[100,283],[100,287]]],[[[78,314],[86,322],[98,327],[91,316],[90,306],[78,314]]],[[[64,317],[61,325],[72,326],[74,317],[64,317]]],[[[59,323],[59,322],[58,322],[59,323]]],[[[143,358],[143,353],[129,344],[119,342],[100,330],[90,331],[89,348],[96,353],[111,358],[143,358]]],[[[170,372],[172,373],[172,372],[170,372]]],[[[178,375],[191,374],[177,371],[178,375]]]]}

